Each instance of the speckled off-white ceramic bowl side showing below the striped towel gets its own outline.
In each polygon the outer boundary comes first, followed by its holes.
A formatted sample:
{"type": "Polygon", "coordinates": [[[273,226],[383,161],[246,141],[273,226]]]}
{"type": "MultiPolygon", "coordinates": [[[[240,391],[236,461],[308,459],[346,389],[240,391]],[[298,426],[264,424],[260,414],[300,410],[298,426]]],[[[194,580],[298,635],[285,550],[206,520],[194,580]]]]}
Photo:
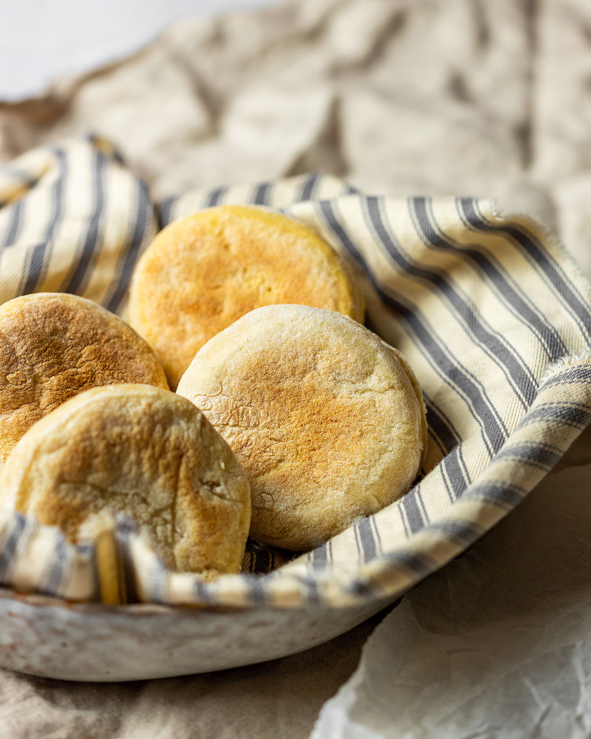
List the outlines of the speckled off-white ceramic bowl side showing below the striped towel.
{"type": "Polygon", "coordinates": [[[387,602],[205,610],[66,604],[0,589],[0,664],[47,678],[120,681],[225,670],[322,644],[387,602]]]}

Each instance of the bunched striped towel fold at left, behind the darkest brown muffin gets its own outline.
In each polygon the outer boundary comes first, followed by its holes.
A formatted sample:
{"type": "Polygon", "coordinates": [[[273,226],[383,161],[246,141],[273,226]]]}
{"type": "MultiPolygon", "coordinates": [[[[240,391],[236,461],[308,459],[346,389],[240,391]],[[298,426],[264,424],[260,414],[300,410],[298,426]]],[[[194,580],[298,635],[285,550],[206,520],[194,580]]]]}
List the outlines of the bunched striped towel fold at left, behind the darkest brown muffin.
{"type": "Polygon", "coordinates": [[[28,151],[1,168],[0,204],[0,302],[64,292],[123,310],[157,222],[146,184],[112,144],[88,134],[28,151]]]}

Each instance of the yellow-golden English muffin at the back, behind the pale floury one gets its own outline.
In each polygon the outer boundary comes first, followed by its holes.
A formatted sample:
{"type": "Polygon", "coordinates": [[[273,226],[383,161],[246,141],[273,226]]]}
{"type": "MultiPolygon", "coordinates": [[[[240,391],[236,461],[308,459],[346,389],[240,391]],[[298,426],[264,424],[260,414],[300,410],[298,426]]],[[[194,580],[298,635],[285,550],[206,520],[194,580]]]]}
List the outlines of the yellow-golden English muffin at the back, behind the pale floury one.
{"type": "Polygon", "coordinates": [[[131,279],[129,322],[175,388],[197,350],[262,305],[301,303],[363,321],[361,292],[338,254],[310,228],[240,205],[171,223],[131,279]]]}

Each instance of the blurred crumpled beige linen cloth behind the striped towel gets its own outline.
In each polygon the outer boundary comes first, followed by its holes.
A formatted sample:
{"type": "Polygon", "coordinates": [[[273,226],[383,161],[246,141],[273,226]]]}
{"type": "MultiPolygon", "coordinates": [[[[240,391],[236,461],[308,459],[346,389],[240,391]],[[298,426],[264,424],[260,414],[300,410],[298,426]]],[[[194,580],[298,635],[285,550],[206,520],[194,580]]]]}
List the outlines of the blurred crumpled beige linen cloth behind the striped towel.
{"type": "Polygon", "coordinates": [[[585,0],[290,0],[196,18],[127,61],[0,103],[0,159],[89,130],[157,198],[306,171],[496,197],[591,270],[585,0]]]}

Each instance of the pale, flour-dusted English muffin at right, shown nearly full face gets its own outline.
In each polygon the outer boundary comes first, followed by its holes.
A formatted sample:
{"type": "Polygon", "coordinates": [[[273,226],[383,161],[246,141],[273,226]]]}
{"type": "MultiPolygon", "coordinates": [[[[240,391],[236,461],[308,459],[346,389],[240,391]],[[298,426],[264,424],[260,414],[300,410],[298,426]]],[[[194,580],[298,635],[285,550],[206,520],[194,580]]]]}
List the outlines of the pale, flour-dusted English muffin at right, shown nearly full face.
{"type": "Polygon", "coordinates": [[[228,441],[250,482],[250,535],[313,548],[411,486],[426,445],[420,388],[346,316],[262,307],[208,341],[177,392],[228,441]]]}

